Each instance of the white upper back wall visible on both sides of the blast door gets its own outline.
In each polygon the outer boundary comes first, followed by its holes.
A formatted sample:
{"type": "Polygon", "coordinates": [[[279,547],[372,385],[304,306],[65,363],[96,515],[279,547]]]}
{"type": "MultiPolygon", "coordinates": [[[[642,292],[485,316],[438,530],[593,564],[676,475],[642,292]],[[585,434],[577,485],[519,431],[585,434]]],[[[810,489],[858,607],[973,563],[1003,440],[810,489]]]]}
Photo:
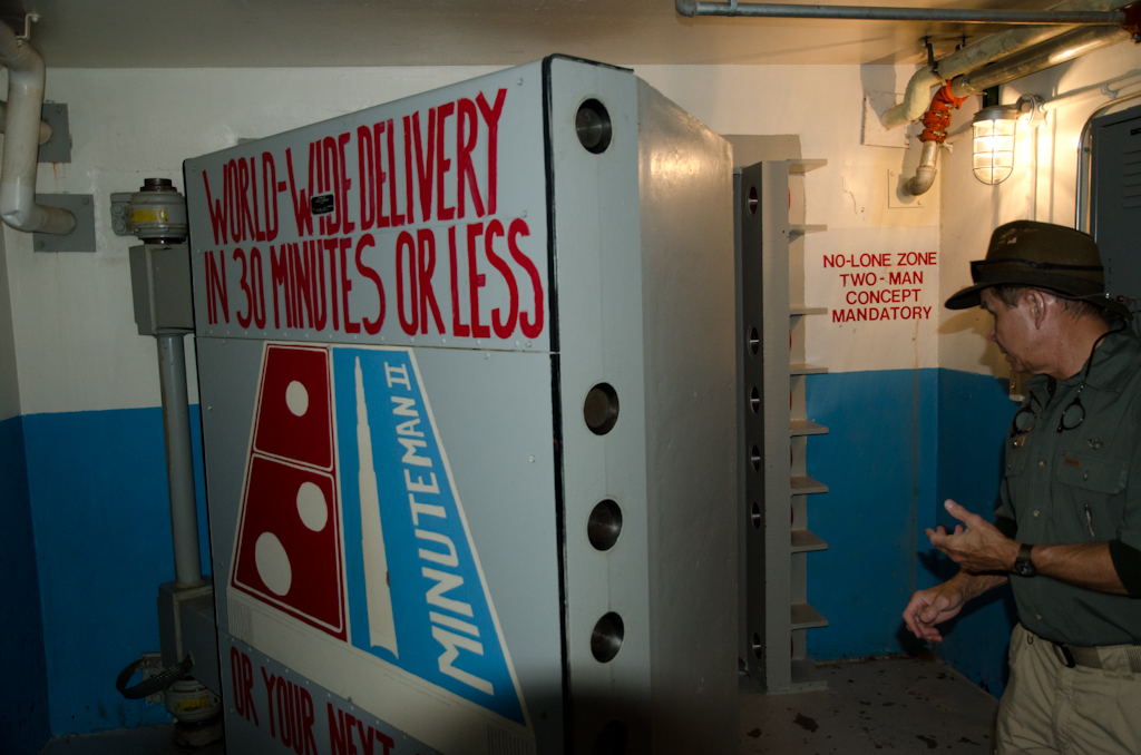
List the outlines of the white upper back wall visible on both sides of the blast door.
{"type": "MultiPolygon", "coordinates": [[[[50,62],[49,62],[50,64],[50,62]]],[[[137,334],[127,250],[113,235],[110,195],[147,177],[181,186],[181,161],[379,103],[480,75],[487,67],[306,70],[48,70],[47,98],[67,103],[72,163],[42,167],[38,190],[94,194],[97,251],[37,254],[5,229],[24,414],[159,406],[154,342],[137,334]]],[[[799,133],[826,169],[806,179],[807,303],[844,290],[833,253],[938,251],[938,188],[925,210],[889,210],[889,169],[917,151],[860,145],[865,89],[901,91],[911,66],[639,66],[637,73],[723,133],[799,133]]],[[[941,267],[941,266],[940,266],[941,267]]],[[[936,305],[938,269],[924,279],[936,305]]],[[[931,367],[937,320],[834,325],[809,320],[809,362],[833,371],[931,367]]],[[[2,332],[2,328],[0,328],[2,332]]],[[[0,335],[2,340],[2,335],[0,335]]],[[[193,349],[187,349],[193,354],[193,349]]],[[[193,370],[193,366],[192,366],[193,370]]],[[[191,381],[194,384],[195,381],[191,381]]],[[[194,397],[192,396],[192,399],[194,397]]]]}

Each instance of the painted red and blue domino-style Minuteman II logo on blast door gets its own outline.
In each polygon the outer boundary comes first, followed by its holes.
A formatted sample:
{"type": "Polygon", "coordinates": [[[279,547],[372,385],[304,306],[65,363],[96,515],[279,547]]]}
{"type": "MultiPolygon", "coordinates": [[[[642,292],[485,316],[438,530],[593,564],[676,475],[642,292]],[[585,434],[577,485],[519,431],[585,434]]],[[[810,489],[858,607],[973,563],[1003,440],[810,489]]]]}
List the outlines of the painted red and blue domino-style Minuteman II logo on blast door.
{"type": "Polygon", "coordinates": [[[267,344],[230,586],[525,724],[410,349],[267,344]]]}

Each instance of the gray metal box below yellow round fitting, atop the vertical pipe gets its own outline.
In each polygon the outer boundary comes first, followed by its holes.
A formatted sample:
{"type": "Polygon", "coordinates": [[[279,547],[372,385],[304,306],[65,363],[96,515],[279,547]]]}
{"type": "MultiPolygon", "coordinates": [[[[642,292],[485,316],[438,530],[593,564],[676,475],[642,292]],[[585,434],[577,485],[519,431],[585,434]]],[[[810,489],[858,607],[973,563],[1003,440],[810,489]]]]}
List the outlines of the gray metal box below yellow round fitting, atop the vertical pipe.
{"type": "Polygon", "coordinates": [[[131,246],[131,298],[139,335],[193,331],[191,255],[186,244],[131,246]]]}

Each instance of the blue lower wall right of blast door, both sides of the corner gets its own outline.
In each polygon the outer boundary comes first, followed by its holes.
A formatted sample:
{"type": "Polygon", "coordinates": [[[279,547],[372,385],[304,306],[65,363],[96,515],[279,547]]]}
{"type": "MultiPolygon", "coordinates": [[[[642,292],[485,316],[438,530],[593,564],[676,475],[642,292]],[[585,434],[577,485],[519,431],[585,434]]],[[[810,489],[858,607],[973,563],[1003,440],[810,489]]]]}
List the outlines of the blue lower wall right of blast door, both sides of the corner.
{"type": "MultiPolygon", "coordinates": [[[[922,649],[901,620],[916,588],[957,567],[924,535],[954,523],[954,498],[992,515],[1002,438],[1014,414],[1008,384],[954,370],[855,372],[808,379],[808,472],[828,485],[809,500],[809,528],[828,550],[809,555],[809,602],[830,618],[808,633],[817,659],[922,649]]],[[[970,603],[945,628],[938,655],[994,695],[1006,675],[1014,618],[1008,590],[970,603]]]]}

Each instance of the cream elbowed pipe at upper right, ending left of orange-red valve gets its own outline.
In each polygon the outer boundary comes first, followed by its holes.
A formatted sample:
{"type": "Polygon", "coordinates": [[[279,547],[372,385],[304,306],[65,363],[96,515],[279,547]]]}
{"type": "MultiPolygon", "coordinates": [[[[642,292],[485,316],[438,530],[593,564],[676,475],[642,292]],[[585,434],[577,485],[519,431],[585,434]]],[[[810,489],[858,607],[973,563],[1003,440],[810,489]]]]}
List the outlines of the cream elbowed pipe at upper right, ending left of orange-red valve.
{"type": "MultiPolygon", "coordinates": [[[[1108,0],[1065,0],[1053,6],[1051,10],[1104,10],[1109,7],[1108,0]]],[[[1120,11],[1115,11],[1120,13],[1120,11]]],[[[931,66],[924,66],[915,72],[912,80],[907,82],[904,94],[904,102],[888,109],[881,119],[885,129],[893,129],[905,123],[919,120],[926,111],[931,102],[931,88],[950,81],[955,76],[962,75],[974,68],[993,63],[1006,55],[1017,52],[1033,44],[1038,44],[1054,38],[1066,29],[1063,26],[1026,26],[1022,29],[1008,29],[997,34],[984,36],[977,42],[955,50],[944,59],[939,60],[936,71],[931,66]]]]}

